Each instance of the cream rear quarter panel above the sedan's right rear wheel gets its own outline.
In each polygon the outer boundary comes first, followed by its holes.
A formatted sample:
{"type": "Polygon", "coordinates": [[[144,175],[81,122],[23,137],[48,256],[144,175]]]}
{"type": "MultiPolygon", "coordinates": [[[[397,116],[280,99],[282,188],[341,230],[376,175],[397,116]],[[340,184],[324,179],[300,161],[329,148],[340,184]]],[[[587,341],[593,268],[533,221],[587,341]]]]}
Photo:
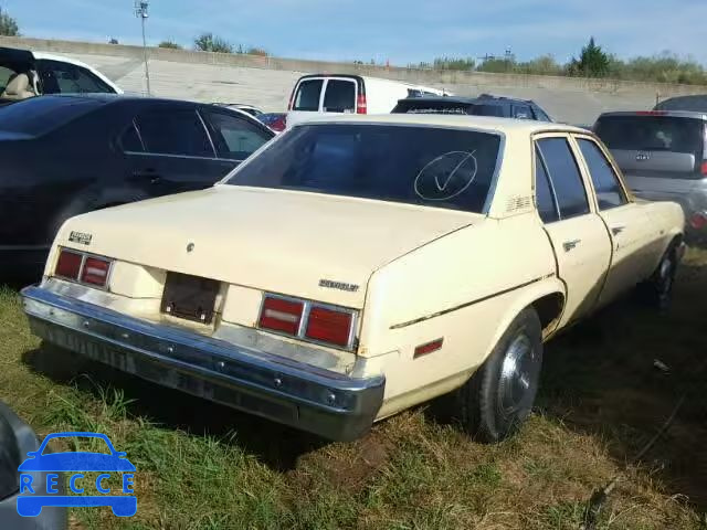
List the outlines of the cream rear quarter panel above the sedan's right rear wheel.
{"type": "Polygon", "coordinates": [[[371,372],[386,374],[381,416],[463,384],[520,310],[563,293],[555,273],[535,214],[487,219],[378,271],[368,286],[359,353],[371,372]],[[413,358],[416,346],[439,338],[441,350],[413,358]]]}

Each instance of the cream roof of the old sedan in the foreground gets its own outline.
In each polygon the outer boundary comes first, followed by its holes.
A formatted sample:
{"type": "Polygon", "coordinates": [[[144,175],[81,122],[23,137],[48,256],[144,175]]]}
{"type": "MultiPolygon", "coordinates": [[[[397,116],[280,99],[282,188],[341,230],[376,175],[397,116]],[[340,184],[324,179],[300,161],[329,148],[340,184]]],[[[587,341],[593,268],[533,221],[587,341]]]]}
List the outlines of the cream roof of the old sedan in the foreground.
{"type": "Polygon", "coordinates": [[[453,116],[445,114],[335,114],[317,116],[294,125],[314,124],[377,124],[377,125],[419,125],[428,127],[450,127],[469,130],[484,130],[488,132],[526,134],[537,132],[580,132],[588,134],[585,129],[572,125],[556,124],[552,121],[536,121],[532,119],[498,118],[490,116],[453,116]]]}

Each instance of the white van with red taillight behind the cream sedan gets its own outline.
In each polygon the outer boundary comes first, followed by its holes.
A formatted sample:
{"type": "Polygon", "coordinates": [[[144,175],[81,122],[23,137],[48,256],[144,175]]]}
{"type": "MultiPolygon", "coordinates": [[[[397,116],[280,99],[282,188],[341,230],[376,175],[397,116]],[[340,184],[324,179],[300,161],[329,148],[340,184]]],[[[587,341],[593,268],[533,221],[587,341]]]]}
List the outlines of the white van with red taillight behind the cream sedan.
{"type": "Polygon", "coordinates": [[[449,96],[428,86],[360,75],[313,74],[299,77],[287,106],[291,126],[315,113],[389,114],[399,99],[449,96]]]}

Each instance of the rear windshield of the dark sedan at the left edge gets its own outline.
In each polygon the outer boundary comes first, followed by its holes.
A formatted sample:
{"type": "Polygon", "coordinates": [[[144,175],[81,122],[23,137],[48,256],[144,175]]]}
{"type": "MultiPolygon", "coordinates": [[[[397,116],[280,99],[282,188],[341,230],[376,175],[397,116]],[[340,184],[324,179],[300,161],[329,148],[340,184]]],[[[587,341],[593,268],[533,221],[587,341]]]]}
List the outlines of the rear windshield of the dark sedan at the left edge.
{"type": "Polygon", "coordinates": [[[80,97],[32,97],[0,107],[0,129],[41,136],[103,106],[80,97]]]}

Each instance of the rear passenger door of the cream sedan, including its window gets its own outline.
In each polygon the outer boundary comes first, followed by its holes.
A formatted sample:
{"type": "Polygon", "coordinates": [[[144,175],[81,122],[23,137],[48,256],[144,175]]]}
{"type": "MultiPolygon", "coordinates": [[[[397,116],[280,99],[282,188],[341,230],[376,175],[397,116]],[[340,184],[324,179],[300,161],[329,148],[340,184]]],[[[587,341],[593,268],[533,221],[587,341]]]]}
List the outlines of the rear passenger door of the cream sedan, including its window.
{"type": "Polygon", "coordinates": [[[611,261],[606,226],[589,199],[570,141],[567,135],[535,141],[536,202],[567,286],[560,326],[597,305],[611,261]]]}

